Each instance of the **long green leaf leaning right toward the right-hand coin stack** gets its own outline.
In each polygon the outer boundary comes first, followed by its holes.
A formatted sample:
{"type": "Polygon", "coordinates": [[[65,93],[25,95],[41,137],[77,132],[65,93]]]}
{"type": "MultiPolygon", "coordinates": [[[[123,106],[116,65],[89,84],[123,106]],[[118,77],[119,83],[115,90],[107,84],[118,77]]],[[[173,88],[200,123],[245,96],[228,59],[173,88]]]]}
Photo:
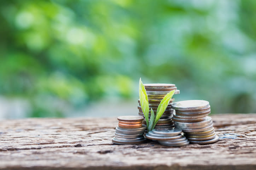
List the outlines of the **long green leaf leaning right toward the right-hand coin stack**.
{"type": "Polygon", "coordinates": [[[152,128],[155,128],[158,120],[161,118],[161,116],[163,115],[165,109],[167,108],[171,97],[174,95],[175,90],[170,91],[167,95],[164,96],[164,98],[162,99],[162,101],[160,102],[160,104],[157,107],[157,111],[156,111],[156,119],[154,122],[154,125],[152,128]]]}

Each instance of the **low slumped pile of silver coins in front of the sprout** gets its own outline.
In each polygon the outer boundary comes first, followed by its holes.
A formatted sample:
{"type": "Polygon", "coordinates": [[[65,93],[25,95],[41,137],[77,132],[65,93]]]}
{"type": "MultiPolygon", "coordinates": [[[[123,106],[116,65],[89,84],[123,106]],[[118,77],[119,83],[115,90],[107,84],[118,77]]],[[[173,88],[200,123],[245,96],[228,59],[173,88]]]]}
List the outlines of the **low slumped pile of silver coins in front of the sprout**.
{"type": "Polygon", "coordinates": [[[157,140],[161,145],[166,146],[188,145],[189,141],[186,137],[181,136],[181,132],[179,128],[170,128],[168,130],[153,129],[146,134],[146,138],[157,140]]]}

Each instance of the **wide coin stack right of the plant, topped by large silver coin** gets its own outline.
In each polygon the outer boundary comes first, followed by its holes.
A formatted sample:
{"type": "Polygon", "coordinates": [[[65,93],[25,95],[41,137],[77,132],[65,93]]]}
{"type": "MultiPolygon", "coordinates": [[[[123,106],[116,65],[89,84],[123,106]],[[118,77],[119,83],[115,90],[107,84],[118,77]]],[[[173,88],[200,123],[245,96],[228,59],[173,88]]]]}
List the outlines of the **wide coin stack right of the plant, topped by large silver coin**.
{"type": "Polygon", "coordinates": [[[186,100],[175,102],[173,121],[175,127],[182,129],[191,144],[210,144],[219,140],[208,114],[211,109],[208,101],[186,100]]]}

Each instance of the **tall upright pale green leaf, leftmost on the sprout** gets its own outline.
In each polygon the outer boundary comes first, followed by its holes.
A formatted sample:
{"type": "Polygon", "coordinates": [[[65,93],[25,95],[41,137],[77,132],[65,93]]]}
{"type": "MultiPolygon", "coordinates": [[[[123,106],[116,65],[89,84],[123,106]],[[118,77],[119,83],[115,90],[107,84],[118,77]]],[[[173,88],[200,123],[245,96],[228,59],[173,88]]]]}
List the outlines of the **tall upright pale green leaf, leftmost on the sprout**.
{"type": "Polygon", "coordinates": [[[140,96],[140,106],[144,117],[146,119],[147,128],[149,128],[149,101],[147,99],[147,92],[144,84],[141,81],[139,82],[139,96],[140,96]]]}

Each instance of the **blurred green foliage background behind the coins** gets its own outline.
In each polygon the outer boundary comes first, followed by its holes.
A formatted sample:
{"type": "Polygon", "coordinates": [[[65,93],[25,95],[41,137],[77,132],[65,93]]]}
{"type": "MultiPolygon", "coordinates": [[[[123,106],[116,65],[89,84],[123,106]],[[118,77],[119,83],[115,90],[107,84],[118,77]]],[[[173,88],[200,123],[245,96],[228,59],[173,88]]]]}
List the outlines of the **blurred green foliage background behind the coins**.
{"type": "Polygon", "coordinates": [[[0,118],[136,115],[140,77],[256,112],[255,0],[0,3],[0,118]]]}

